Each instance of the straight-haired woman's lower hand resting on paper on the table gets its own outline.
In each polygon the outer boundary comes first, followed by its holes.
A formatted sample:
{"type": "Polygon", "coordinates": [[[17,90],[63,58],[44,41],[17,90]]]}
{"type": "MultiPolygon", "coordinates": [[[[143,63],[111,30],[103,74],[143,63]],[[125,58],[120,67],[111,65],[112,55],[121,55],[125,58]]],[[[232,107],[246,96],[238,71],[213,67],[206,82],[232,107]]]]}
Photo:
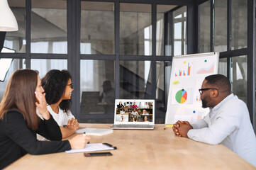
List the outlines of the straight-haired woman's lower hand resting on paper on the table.
{"type": "Polygon", "coordinates": [[[83,149],[87,145],[87,142],[89,142],[89,140],[91,140],[91,137],[77,135],[69,140],[69,144],[71,146],[71,149],[83,149]]]}

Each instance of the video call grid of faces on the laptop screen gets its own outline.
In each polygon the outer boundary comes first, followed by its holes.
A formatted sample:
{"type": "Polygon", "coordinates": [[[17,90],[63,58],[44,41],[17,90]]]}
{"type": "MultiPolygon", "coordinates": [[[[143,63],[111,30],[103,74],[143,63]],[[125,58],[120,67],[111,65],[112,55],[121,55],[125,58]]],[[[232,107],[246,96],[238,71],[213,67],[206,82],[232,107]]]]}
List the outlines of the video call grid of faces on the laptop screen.
{"type": "Polygon", "coordinates": [[[155,123],[154,100],[116,99],[115,123],[155,123]]]}

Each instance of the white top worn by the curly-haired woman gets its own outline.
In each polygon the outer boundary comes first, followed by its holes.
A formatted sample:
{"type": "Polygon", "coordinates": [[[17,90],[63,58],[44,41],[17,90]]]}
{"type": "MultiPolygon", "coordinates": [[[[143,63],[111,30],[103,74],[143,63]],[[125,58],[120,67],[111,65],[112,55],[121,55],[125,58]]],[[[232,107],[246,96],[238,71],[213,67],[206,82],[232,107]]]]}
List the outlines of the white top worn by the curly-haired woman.
{"type": "MultiPolygon", "coordinates": [[[[67,125],[68,120],[74,118],[74,115],[72,115],[71,111],[68,111],[68,115],[67,115],[67,113],[65,113],[60,107],[59,107],[58,114],[52,111],[52,108],[50,107],[50,105],[47,106],[47,109],[49,113],[52,115],[52,118],[54,118],[54,120],[57,122],[59,126],[67,125]]],[[[42,115],[38,113],[38,109],[36,110],[36,113],[41,119],[43,119],[42,115]]]]}

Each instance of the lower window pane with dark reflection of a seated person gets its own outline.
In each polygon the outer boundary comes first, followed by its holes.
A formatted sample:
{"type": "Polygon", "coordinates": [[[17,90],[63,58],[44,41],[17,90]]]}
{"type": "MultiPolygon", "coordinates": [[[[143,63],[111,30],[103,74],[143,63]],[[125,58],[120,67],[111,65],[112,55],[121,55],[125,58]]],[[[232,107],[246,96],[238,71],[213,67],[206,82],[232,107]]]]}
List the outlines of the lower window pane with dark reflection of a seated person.
{"type": "MultiPolygon", "coordinates": [[[[80,67],[81,115],[113,114],[116,97],[114,62],[81,60],[80,67]]],[[[94,120],[90,121],[94,122],[94,120]]],[[[104,119],[101,119],[98,123],[103,122],[104,119]]]]}

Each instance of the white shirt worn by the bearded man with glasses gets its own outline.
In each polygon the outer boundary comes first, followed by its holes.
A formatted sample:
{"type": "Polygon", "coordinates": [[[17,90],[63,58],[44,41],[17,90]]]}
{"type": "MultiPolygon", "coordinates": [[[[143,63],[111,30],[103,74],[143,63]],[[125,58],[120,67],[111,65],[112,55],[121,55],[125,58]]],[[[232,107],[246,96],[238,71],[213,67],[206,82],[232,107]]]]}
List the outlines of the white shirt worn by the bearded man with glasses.
{"type": "Polygon", "coordinates": [[[188,137],[211,145],[223,144],[256,167],[256,137],[246,104],[230,94],[192,124],[188,137]]]}

